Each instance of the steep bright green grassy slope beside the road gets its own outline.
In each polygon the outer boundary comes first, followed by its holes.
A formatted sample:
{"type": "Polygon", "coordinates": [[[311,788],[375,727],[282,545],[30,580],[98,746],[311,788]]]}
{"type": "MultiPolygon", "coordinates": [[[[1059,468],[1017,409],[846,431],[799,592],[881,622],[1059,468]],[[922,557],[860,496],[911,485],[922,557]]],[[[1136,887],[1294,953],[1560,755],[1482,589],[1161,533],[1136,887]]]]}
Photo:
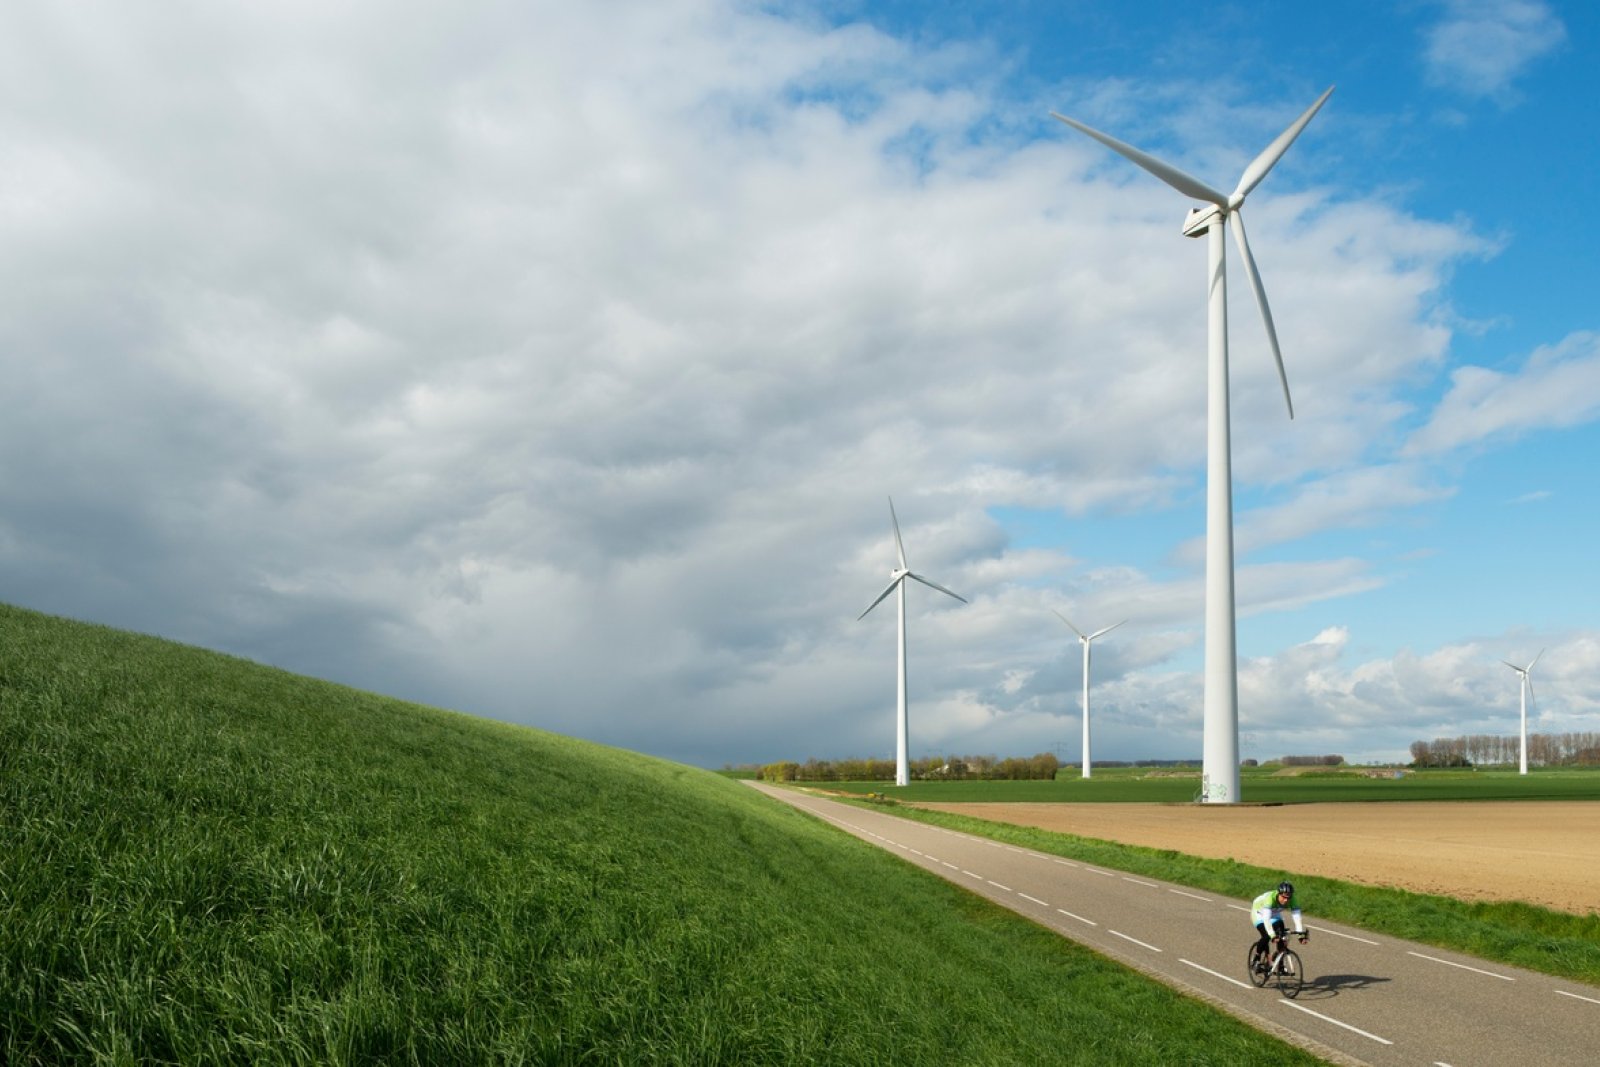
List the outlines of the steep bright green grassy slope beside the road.
{"type": "Polygon", "coordinates": [[[715,774],[14,608],[0,1061],[1312,1062],[715,774]]]}

